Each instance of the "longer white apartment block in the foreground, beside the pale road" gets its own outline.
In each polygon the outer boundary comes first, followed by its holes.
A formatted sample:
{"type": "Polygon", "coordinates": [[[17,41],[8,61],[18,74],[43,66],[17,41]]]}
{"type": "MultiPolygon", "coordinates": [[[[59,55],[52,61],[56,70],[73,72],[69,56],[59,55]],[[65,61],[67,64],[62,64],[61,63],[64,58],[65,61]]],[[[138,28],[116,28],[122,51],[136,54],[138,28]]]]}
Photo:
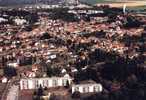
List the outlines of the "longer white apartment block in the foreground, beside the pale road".
{"type": "Polygon", "coordinates": [[[52,77],[52,78],[26,78],[20,80],[20,89],[37,89],[40,85],[44,87],[67,86],[71,84],[69,77],[52,77]]]}

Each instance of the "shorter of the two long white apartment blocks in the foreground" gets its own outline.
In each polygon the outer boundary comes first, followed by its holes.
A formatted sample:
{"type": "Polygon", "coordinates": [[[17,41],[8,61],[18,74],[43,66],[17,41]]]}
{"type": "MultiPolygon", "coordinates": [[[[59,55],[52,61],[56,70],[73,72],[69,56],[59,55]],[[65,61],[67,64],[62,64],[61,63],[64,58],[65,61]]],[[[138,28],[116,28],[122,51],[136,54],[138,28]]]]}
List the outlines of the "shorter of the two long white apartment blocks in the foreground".
{"type": "Polygon", "coordinates": [[[103,88],[101,84],[79,84],[72,86],[72,93],[79,91],[80,93],[93,93],[102,92],[103,88]]]}

